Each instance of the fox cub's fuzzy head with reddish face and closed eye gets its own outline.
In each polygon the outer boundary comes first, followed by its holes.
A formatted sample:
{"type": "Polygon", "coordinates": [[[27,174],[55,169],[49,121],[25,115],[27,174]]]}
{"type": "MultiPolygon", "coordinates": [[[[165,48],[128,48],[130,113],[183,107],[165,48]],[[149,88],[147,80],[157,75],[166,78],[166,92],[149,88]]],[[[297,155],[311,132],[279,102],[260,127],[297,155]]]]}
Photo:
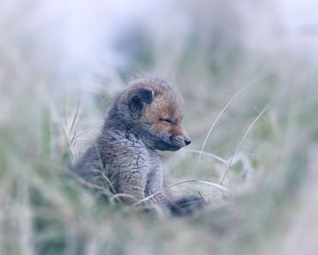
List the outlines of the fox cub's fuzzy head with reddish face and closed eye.
{"type": "Polygon", "coordinates": [[[170,85],[141,78],[116,97],[105,125],[136,135],[152,150],[178,151],[191,143],[181,120],[180,99],[170,85]]]}

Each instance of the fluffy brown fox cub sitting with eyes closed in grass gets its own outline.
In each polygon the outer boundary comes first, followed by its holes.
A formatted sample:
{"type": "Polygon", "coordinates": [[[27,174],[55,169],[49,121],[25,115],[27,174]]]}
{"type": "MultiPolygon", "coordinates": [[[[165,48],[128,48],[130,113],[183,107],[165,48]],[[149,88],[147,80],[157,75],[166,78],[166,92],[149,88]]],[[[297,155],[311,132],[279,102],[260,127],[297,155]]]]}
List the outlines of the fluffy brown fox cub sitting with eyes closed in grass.
{"type": "Polygon", "coordinates": [[[202,199],[170,197],[157,152],[178,151],[191,143],[181,120],[180,98],[166,81],[132,81],[115,97],[101,135],[74,171],[87,182],[110,187],[125,203],[150,196],[148,202],[168,207],[171,213],[191,213],[203,205],[202,199]]]}

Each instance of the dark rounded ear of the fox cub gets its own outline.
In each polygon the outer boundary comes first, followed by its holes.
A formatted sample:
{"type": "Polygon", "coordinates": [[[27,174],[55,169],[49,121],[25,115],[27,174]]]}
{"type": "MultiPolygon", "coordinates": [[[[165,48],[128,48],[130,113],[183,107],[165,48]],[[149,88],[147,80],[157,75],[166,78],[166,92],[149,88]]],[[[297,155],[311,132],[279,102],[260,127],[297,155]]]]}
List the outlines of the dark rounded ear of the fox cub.
{"type": "Polygon", "coordinates": [[[153,100],[153,92],[150,89],[137,89],[129,99],[129,108],[133,113],[141,115],[143,104],[151,104],[153,100]]]}

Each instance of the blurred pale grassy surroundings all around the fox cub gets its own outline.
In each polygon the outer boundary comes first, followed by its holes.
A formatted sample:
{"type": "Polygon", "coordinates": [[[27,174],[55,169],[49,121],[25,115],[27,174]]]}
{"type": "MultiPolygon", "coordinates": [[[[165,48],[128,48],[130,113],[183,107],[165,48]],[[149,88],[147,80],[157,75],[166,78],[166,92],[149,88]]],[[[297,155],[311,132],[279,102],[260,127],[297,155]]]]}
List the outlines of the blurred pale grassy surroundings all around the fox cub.
{"type": "Polygon", "coordinates": [[[0,253],[316,254],[317,59],[314,0],[0,0],[0,253]],[[184,98],[193,143],[163,154],[190,218],[64,176],[142,73],[184,98]]]}

